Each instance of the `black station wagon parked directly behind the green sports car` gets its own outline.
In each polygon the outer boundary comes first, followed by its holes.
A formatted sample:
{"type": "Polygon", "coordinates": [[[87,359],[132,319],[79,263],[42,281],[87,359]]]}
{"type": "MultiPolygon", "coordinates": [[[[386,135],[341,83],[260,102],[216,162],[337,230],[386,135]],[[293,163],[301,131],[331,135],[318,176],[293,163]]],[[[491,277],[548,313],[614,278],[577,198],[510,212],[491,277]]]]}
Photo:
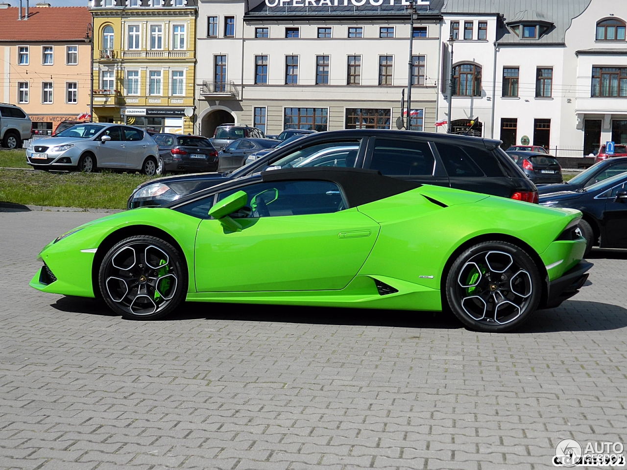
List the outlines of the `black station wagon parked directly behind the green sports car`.
{"type": "Polygon", "coordinates": [[[373,169],[423,184],[537,202],[534,184],[499,145],[500,140],[431,132],[380,129],[317,132],[294,140],[230,174],[151,180],[131,194],[128,207],[159,206],[189,192],[268,167],[315,166],[373,169]]]}

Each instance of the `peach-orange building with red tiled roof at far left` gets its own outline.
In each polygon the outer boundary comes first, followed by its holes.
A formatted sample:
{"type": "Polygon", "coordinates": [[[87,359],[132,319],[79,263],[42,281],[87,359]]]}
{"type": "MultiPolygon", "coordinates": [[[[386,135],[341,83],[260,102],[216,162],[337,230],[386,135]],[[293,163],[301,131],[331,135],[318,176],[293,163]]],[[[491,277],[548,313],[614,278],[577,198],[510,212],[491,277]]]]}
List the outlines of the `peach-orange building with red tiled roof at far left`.
{"type": "Polygon", "coordinates": [[[0,101],[28,113],[39,135],[89,111],[91,23],[84,7],[0,6],[0,101]]]}

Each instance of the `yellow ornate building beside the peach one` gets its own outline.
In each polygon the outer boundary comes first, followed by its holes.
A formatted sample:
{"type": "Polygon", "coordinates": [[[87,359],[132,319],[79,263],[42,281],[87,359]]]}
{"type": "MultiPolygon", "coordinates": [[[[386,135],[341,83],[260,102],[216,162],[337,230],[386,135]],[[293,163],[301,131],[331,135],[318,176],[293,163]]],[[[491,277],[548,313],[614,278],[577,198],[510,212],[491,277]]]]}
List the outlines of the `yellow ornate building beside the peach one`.
{"type": "Polygon", "coordinates": [[[90,0],[90,11],[94,120],[192,133],[196,0],[90,0]]]}

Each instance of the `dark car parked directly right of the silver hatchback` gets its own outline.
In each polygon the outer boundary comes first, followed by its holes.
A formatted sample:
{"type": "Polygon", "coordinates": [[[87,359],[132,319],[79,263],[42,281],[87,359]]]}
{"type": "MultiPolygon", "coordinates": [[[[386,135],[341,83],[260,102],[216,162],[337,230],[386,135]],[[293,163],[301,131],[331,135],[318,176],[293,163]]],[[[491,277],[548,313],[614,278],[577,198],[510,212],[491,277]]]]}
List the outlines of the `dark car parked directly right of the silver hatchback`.
{"type": "Polygon", "coordinates": [[[152,136],[159,147],[157,174],[211,172],[218,169],[218,152],[202,135],[161,133],[152,136]]]}

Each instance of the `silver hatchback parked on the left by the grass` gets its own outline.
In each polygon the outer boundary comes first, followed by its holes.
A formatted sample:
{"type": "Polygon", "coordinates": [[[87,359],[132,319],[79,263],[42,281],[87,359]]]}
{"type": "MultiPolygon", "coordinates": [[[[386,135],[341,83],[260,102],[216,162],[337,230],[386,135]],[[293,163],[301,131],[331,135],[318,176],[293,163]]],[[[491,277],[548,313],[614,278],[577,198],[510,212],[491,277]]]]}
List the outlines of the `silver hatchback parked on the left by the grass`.
{"type": "Polygon", "coordinates": [[[26,160],[35,169],[79,170],[110,168],[157,174],[159,149],[142,129],[120,124],[82,123],[53,137],[33,140],[26,160]]]}

